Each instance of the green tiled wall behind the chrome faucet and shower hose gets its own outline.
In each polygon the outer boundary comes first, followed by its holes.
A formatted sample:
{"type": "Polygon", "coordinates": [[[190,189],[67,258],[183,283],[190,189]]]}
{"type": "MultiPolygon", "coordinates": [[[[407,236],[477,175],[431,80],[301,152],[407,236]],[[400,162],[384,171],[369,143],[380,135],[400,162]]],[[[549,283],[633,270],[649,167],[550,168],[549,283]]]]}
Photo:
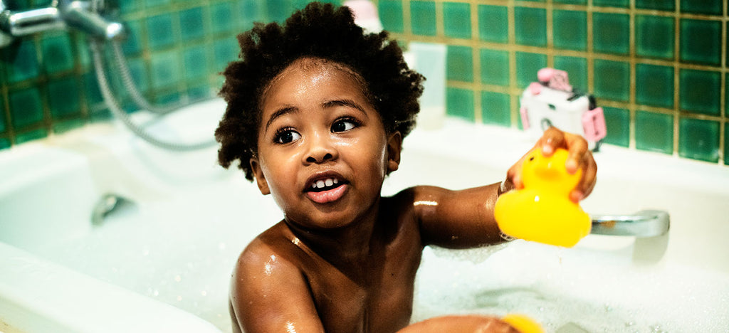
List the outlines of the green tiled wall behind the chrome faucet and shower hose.
{"type": "MultiPolygon", "coordinates": [[[[107,1],[108,2],[108,1],[107,1]]],[[[139,90],[155,103],[207,98],[238,56],[235,36],[254,21],[284,20],[303,0],[119,0],[122,44],[139,90]]],[[[341,1],[330,1],[340,4],[341,1]]],[[[9,0],[9,9],[47,6],[46,0],[9,0]]],[[[402,12],[400,10],[399,12],[402,12]]],[[[403,31],[401,29],[401,31],[403,31]]],[[[107,63],[114,64],[110,50],[107,63]]],[[[86,36],[47,31],[0,49],[0,149],[111,117],[95,79],[86,36]]],[[[135,106],[116,67],[107,73],[125,109],[135,106]]]]}

